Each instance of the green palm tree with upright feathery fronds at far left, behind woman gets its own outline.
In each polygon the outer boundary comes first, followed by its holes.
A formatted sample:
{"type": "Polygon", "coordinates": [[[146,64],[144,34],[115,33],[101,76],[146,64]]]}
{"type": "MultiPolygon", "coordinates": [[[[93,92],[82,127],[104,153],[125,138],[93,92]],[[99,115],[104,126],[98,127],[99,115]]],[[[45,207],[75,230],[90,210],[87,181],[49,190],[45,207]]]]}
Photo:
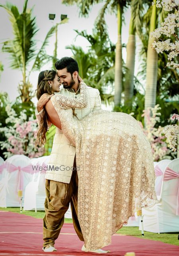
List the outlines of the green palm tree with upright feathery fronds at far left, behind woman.
{"type": "Polygon", "coordinates": [[[22,73],[22,82],[19,83],[19,91],[22,102],[31,102],[33,94],[31,92],[32,85],[29,82],[29,75],[33,70],[39,70],[45,62],[52,59],[45,52],[45,47],[48,44],[48,39],[53,35],[55,26],[51,27],[47,33],[45,40],[37,52],[37,45],[34,39],[37,34],[37,26],[35,18],[32,17],[32,9],[27,10],[27,2],[25,0],[23,12],[20,14],[16,6],[12,4],[2,5],[9,16],[12,23],[14,39],[3,43],[2,51],[10,54],[11,67],[19,69],[22,73]],[[27,72],[27,67],[33,61],[30,72],[27,72]],[[28,74],[27,74],[28,73],[28,74]]]}

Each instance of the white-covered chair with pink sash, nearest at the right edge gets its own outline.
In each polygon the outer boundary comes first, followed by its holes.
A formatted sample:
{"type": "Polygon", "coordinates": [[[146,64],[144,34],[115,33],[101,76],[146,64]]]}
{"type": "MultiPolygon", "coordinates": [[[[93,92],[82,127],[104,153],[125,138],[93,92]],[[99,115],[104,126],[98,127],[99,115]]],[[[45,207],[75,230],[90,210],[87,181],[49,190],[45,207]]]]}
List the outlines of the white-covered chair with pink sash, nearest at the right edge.
{"type": "Polygon", "coordinates": [[[158,203],[142,208],[144,231],[179,232],[179,158],[166,166],[158,198],[158,203]]]}

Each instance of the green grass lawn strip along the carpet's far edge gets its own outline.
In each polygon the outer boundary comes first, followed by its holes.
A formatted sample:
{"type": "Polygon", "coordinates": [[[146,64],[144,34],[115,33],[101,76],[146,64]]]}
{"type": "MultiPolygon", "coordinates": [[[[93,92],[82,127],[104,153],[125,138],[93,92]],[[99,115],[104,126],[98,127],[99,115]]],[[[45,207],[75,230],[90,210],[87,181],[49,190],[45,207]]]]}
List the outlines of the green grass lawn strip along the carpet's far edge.
{"type": "MultiPolygon", "coordinates": [[[[0,211],[12,211],[14,213],[19,213],[19,214],[25,214],[28,216],[32,216],[38,219],[43,219],[45,213],[44,211],[22,211],[20,213],[20,208],[12,207],[12,208],[2,208],[0,207],[0,211]]],[[[65,219],[65,223],[72,223],[71,219],[65,219]]],[[[128,236],[137,236],[138,238],[141,239],[150,239],[150,240],[155,240],[155,241],[161,241],[165,242],[167,244],[175,244],[179,245],[179,240],[178,240],[178,233],[161,233],[161,234],[156,234],[156,233],[151,233],[151,232],[146,232],[144,231],[144,236],[141,235],[141,231],[138,230],[138,227],[125,227],[123,226],[122,229],[117,231],[117,234],[121,235],[128,235],[128,236]]]]}

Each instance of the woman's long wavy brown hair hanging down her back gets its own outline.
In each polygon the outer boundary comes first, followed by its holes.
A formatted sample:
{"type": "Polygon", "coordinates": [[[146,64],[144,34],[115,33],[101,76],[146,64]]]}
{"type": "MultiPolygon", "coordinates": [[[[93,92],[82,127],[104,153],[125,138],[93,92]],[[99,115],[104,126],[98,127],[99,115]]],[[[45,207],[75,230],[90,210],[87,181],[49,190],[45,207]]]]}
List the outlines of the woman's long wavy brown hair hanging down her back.
{"type": "MultiPolygon", "coordinates": [[[[36,90],[36,96],[37,99],[42,96],[44,93],[48,93],[49,95],[53,94],[54,91],[52,87],[49,86],[48,81],[53,81],[56,76],[55,70],[44,70],[41,71],[38,77],[38,83],[37,83],[37,90],[36,90]]],[[[43,118],[41,119],[41,122],[39,124],[39,131],[37,133],[37,140],[35,141],[35,145],[42,146],[46,142],[46,132],[48,130],[48,123],[47,123],[47,113],[45,111],[45,108],[43,110],[43,118]]]]}

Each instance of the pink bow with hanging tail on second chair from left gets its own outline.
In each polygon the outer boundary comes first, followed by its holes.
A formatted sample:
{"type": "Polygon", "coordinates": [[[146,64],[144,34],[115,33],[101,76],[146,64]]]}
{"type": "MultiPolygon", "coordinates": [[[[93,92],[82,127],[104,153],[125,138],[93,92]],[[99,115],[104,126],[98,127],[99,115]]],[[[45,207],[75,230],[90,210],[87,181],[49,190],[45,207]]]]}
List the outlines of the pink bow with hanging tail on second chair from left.
{"type": "Polygon", "coordinates": [[[8,172],[15,172],[18,170],[18,190],[23,190],[23,176],[22,172],[33,173],[32,165],[29,164],[25,167],[15,166],[14,164],[8,165],[8,172]]]}

